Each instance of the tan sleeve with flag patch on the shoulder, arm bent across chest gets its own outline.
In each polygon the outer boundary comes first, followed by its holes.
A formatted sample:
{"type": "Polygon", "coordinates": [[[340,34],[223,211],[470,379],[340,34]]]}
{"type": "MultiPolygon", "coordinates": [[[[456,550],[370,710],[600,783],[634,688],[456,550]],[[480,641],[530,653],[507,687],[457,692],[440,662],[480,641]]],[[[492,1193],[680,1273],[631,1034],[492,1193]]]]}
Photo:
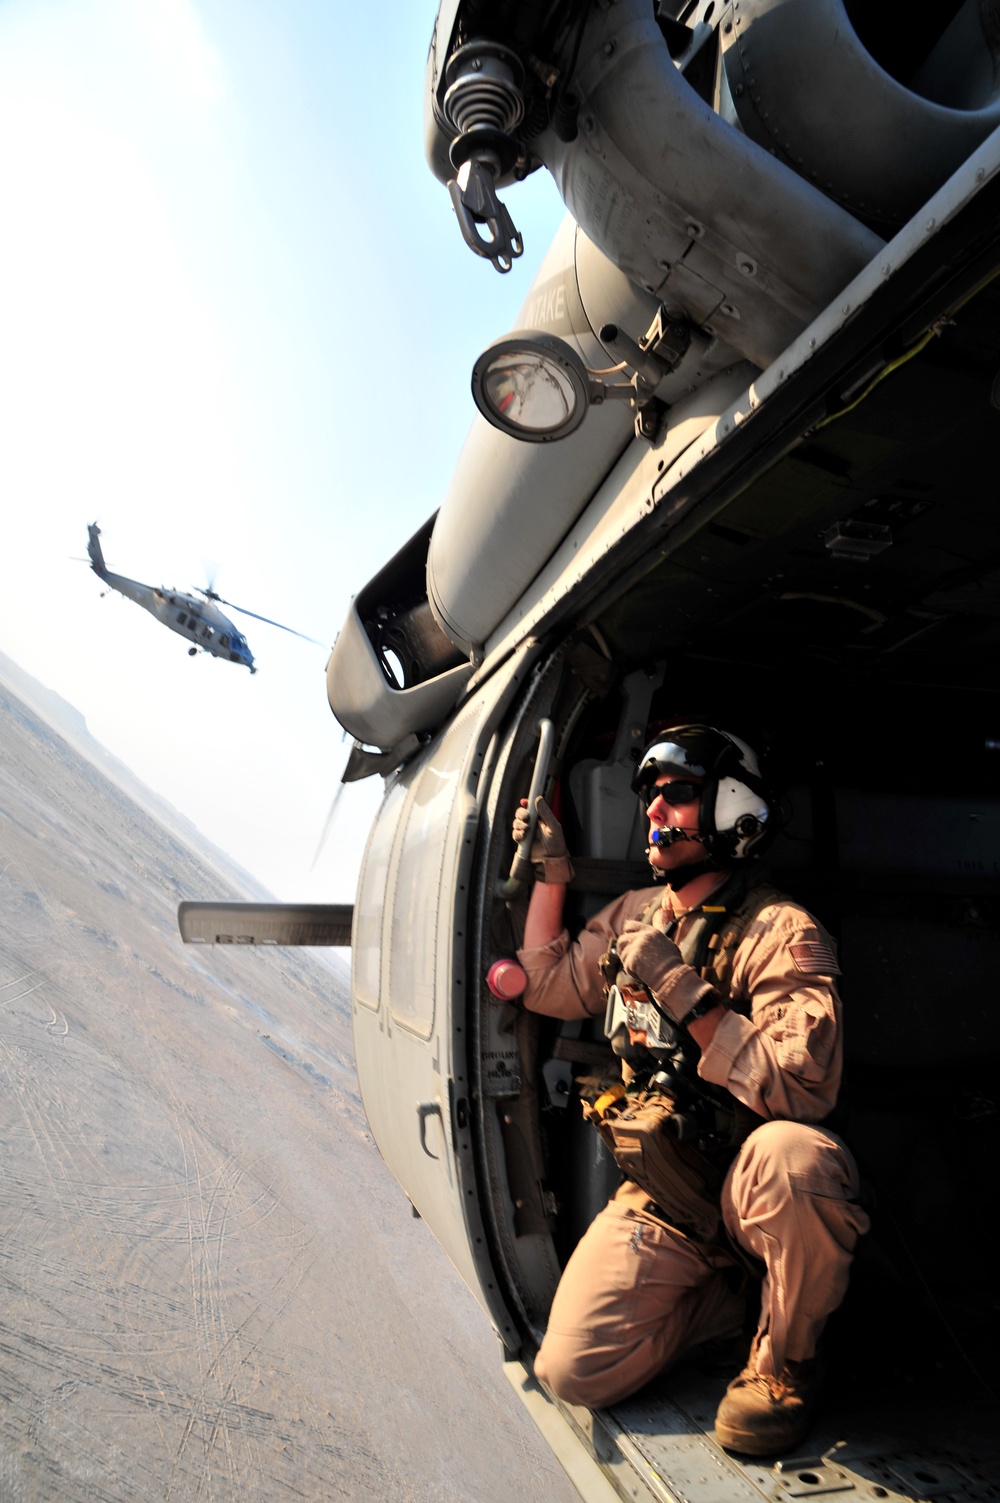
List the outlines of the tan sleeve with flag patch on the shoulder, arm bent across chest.
{"type": "Polygon", "coordinates": [[[803,908],[764,908],[743,936],[732,1003],[698,1073],[759,1117],[820,1121],[836,1105],[842,1022],[833,941],[803,908]]]}

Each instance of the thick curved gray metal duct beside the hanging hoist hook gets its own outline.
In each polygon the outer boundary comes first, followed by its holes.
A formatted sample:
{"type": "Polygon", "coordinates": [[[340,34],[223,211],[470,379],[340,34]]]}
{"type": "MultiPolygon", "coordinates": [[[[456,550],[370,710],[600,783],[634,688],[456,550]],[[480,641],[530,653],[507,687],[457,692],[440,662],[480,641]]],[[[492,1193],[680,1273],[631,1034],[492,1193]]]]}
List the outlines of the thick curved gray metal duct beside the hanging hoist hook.
{"type": "Polygon", "coordinates": [[[577,224],[671,311],[758,365],[880,237],[710,108],[645,0],[594,8],[574,71],[580,132],[535,143],[577,224]]]}

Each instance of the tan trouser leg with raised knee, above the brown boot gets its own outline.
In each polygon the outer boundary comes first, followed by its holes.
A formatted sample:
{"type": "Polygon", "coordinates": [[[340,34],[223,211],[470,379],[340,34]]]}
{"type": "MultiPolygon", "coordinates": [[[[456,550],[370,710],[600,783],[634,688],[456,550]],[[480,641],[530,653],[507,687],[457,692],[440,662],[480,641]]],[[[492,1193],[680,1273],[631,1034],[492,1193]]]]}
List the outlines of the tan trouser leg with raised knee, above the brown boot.
{"type": "Polygon", "coordinates": [[[847,1293],[868,1216],[857,1168],[836,1133],[774,1121],[746,1139],[722,1190],[726,1229],[762,1258],[761,1320],[753,1363],[777,1375],[812,1357],[827,1317],[847,1293]]]}

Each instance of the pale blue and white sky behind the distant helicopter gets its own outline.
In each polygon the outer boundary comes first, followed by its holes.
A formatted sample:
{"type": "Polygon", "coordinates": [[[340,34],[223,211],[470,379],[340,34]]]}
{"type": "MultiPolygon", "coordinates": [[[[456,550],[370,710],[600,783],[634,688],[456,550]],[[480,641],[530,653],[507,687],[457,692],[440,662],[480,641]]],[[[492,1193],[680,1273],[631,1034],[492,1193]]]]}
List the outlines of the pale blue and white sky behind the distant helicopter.
{"type": "MultiPolygon", "coordinates": [[[[507,194],[510,275],[423,156],[432,3],[0,0],[0,648],[277,897],[350,900],[326,651],[235,615],[250,676],[75,558],[332,643],[441,504],[469,373],[562,216],[507,194]]],[[[211,897],[211,893],[205,894],[211,897]]]]}

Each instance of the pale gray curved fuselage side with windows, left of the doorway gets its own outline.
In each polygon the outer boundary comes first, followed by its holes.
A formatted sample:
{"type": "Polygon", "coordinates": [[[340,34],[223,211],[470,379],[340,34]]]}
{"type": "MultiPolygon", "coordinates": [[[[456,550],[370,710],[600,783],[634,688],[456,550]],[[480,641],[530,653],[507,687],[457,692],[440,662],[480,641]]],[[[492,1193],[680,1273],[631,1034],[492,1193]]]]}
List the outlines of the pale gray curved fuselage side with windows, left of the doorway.
{"type": "Polygon", "coordinates": [[[511,1351],[519,1336],[475,1178],[468,1018],[478,980],[466,957],[480,782],[517,667],[493,675],[389,782],[361,870],[352,950],[355,1055],[374,1141],[511,1351]]]}

